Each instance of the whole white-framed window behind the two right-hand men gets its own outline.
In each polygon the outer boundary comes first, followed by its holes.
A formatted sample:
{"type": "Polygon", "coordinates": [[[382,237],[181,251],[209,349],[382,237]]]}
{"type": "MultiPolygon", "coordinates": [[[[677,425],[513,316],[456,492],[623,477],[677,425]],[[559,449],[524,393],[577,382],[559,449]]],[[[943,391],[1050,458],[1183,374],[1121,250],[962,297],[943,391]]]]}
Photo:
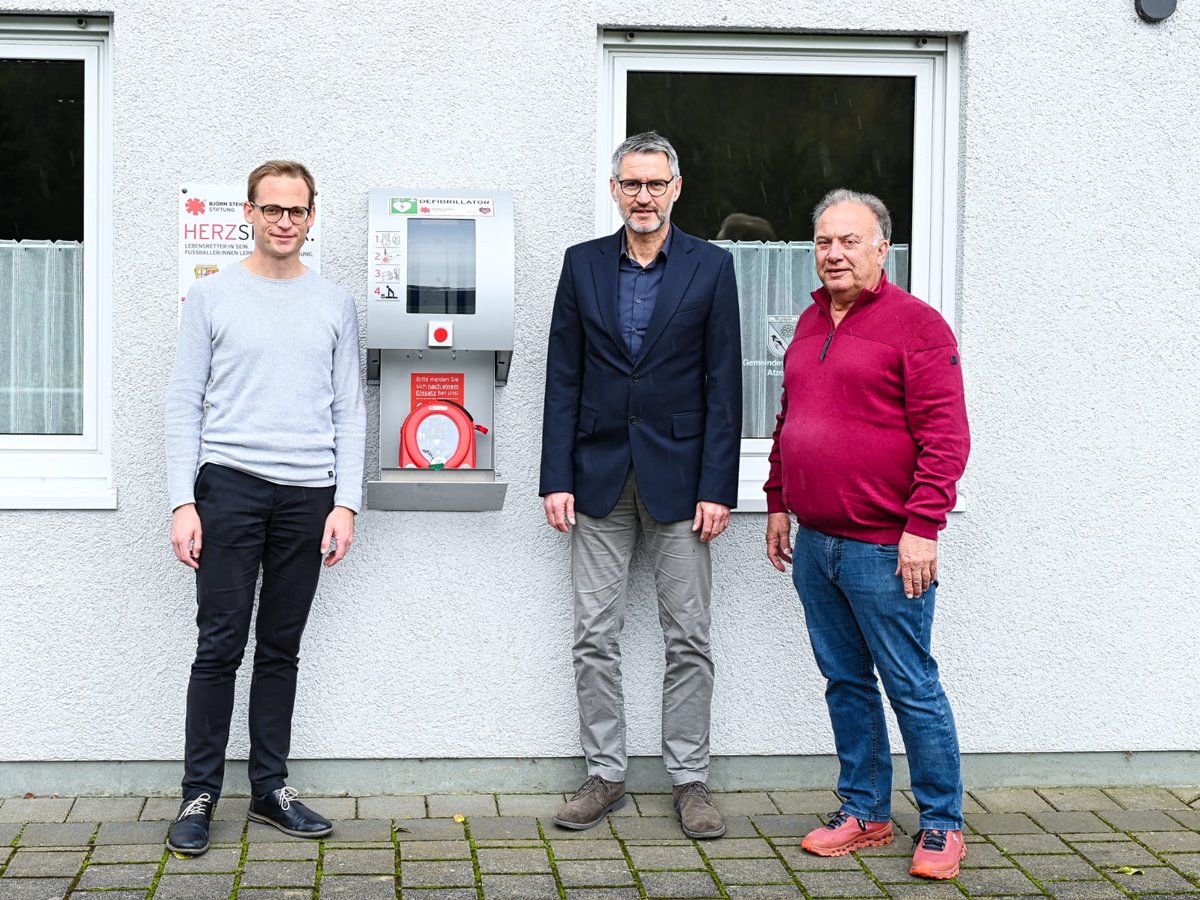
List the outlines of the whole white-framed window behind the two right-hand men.
{"type": "Polygon", "coordinates": [[[958,53],[953,38],[605,32],[596,228],[619,218],[610,155],[656,130],[679,152],[683,230],[733,253],[744,413],[738,509],[762,484],[782,354],[820,282],[812,208],[835,187],[893,216],[888,276],[954,324],[958,53]]]}

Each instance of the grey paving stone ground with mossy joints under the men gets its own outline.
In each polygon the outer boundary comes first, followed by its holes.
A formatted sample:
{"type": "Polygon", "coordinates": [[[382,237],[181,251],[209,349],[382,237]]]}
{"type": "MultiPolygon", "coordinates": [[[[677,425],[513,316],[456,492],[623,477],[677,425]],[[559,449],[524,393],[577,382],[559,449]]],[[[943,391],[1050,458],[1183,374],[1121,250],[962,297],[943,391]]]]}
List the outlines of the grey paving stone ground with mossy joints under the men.
{"type": "Polygon", "coordinates": [[[832,791],[714,797],[728,826],[715,841],[686,839],[667,793],[587,832],[553,824],[558,793],[306,798],[334,820],[322,841],[246,822],[245,799],[226,798],[209,852],[185,859],[163,846],[172,799],[0,799],[0,900],[1200,900],[1200,787],[972,791],[953,882],[908,875],[908,792],[893,798],[895,844],[838,858],[799,848],[832,791]]]}

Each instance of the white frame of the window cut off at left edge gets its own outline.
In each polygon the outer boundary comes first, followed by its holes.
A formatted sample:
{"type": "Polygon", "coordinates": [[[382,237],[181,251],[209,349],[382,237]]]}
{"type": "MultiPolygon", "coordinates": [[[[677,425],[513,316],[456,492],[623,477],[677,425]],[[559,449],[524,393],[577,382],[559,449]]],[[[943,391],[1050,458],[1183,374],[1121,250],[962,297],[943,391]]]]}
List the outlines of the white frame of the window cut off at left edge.
{"type": "Polygon", "coordinates": [[[0,16],[0,55],[84,64],[83,433],[0,434],[0,509],[116,509],[108,38],[102,18],[0,16]]]}

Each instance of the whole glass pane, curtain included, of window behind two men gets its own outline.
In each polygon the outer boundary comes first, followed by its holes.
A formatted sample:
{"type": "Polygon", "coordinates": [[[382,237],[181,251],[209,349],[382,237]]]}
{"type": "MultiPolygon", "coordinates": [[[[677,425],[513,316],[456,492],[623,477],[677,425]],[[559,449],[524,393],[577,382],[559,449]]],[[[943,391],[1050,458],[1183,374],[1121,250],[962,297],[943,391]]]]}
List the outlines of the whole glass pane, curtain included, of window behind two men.
{"type": "Polygon", "coordinates": [[[742,437],[769,438],[784,353],[821,284],[812,208],[828,191],[865,191],[887,204],[888,276],[908,287],[916,79],[630,72],[626,109],[626,134],[658,131],[679,152],[684,190],[671,221],[734,241],[742,437]]]}

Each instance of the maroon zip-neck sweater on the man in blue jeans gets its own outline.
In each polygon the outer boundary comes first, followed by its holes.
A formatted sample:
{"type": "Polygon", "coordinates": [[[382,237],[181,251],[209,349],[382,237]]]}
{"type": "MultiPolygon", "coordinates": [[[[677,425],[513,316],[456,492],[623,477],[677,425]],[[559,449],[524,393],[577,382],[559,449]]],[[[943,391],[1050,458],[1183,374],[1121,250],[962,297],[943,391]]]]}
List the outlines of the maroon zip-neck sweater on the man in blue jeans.
{"type": "Polygon", "coordinates": [[[812,300],[784,356],[767,510],[871,544],[936,540],[971,448],[954,334],[887,275],[836,328],[829,292],[812,300]]]}

